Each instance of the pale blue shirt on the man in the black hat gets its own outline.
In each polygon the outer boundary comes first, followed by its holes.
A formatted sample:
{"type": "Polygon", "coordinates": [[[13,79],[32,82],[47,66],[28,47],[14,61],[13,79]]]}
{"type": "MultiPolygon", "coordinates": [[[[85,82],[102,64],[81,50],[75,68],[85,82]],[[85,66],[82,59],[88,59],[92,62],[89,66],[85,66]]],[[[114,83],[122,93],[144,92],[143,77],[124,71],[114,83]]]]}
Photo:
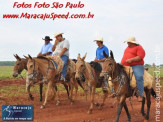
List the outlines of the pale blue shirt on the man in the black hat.
{"type": "Polygon", "coordinates": [[[44,44],[43,46],[42,46],[42,48],[41,48],[41,51],[40,51],[40,53],[41,54],[45,54],[45,53],[47,53],[47,52],[50,52],[50,55],[52,56],[52,47],[53,47],[53,45],[49,42],[48,44],[44,44]]]}

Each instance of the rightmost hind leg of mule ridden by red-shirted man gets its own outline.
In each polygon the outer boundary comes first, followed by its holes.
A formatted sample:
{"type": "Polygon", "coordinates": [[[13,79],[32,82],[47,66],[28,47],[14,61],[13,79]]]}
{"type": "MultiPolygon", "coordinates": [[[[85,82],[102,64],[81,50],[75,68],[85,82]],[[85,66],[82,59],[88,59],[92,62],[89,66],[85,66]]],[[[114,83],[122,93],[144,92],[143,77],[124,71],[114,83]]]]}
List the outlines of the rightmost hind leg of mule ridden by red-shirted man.
{"type": "Polygon", "coordinates": [[[150,106],[151,106],[151,90],[146,88],[145,93],[146,93],[146,98],[147,98],[147,115],[146,115],[145,119],[148,120],[150,106]]]}

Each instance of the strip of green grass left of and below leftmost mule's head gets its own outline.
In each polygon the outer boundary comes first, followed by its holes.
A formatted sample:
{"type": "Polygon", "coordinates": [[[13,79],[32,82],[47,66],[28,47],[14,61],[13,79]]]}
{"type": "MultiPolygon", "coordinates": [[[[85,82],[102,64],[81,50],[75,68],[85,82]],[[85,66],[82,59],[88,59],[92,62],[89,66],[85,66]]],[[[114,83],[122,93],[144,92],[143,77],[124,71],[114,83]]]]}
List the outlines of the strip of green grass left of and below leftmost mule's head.
{"type": "MultiPolygon", "coordinates": [[[[0,79],[14,79],[14,77],[12,76],[13,68],[14,66],[0,66],[0,79]]],[[[25,78],[26,71],[23,70],[21,74],[25,78]]],[[[17,79],[18,78],[21,78],[20,75],[17,77],[17,79]]]]}

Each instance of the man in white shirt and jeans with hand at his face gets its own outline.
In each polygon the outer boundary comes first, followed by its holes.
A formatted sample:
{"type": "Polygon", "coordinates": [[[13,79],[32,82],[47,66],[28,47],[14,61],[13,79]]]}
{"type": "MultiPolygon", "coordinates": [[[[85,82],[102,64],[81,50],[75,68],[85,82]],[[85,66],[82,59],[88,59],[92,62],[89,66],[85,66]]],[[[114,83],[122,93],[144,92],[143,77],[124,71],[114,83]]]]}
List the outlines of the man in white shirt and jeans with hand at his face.
{"type": "Polygon", "coordinates": [[[63,33],[56,32],[54,37],[56,38],[54,45],[52,47],[52,51],[54,51],[53,55],[60,56],[61,59],[64,61],[64,67],[62,70],[61,79],[65,81],[66,71],[67,71],[67,62],[69,59],[69,48],[70,44],[69,41],[63,38],[63,33]]]}

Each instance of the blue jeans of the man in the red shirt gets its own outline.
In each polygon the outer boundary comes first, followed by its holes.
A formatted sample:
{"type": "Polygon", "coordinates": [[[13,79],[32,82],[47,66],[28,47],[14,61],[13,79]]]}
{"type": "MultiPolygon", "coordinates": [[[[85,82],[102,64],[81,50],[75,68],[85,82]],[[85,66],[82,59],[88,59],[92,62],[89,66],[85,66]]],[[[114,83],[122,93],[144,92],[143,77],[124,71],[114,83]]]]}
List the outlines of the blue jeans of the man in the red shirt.
{"type": "Polygon", "coordinates": [[[139,95],[143,97],[143,91],[144,91],[144,66],[143,65],[135,65],[132,66],[132,70],[134,72],[135,78],[136,78],[136,84],[139,91],[139,95]]]}

